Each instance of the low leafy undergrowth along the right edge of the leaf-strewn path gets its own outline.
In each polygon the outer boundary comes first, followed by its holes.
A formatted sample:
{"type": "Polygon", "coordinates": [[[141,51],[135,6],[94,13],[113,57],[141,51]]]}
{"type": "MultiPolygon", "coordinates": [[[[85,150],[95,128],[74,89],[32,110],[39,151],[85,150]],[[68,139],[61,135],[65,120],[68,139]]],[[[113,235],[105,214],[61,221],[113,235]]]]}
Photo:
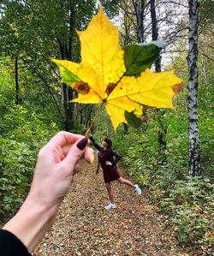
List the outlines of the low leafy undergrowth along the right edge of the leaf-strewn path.
{"type": "MultiPolygon", "coordinates": [[[[175,128],[171,118],[176,117],[172,115],[169,111],[163,116],[163,121],[165,118],[168,124],[164,152],[158,149],[155,118],[151,118],[146,129],[129,128],[128,134],[123,134],[122,127],[119,128],[114,146],[122,154],[128,174],[148,191],[152,202],[163,212],[166,223],[173,225],[178,246],[185,248],[187,253],[199,250],[202,253],[199,255],[212,255],[214,186],[209,177],[211,168],[207,169],[211,163],[206,161],[202,166],[202,170],[206,170],[205,176],[193,178],[188,175],[185,120],[177,123],[174,120],[175,128]],[[180,130],[179,134],[177,130],[180,130]]],[[[202,145],[202,156],[207,154],[203,152],[205,147],[208,145],[202,145]]],[[[210,158],[206,156],[206,159],[210,158]]]]}

